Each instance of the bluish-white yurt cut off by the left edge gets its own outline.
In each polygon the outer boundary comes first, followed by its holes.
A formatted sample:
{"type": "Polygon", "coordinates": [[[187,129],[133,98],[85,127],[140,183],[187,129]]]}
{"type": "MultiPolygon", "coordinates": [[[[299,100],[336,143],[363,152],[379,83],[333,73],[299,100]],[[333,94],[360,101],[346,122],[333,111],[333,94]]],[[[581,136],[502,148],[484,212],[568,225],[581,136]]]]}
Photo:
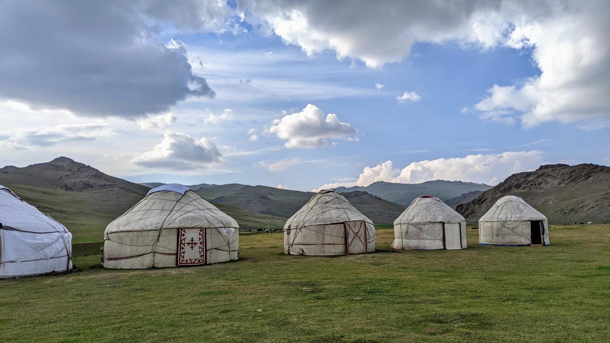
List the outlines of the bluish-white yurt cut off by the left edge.
{"type": "Polygon", "coordinates": [[[0,185],[0,278],[72,269],[72,234],[0,185]]]}

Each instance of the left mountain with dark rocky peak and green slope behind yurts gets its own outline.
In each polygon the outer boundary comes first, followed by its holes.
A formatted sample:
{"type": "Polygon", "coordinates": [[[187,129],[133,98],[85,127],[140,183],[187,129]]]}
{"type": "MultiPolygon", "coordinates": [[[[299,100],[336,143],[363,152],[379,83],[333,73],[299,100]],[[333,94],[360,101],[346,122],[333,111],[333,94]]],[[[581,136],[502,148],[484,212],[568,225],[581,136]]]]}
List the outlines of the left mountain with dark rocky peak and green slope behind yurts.
{"type": "MultiPolygon", "coordinates": [[[[153,182],[154,185],[161,185],[153,182]]],[[[18,168],[0,168],[0,184],[65,225],[74,242],[99,241],[108,223],[145,197],[150,189],[106,175],[68,157],[18,168]]],[[[271,222],[282,228],[285,218],[244,211],[215,204],[243,228],[257,228],[271,222]]]]}

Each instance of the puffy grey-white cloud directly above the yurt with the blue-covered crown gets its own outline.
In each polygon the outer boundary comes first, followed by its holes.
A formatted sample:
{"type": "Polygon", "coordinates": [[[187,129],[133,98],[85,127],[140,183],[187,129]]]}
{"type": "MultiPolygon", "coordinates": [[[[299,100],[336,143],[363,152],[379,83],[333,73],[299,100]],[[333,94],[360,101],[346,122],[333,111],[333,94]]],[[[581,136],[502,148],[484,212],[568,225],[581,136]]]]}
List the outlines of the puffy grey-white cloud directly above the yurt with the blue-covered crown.
{"type": "Polygon", "coordinates": [[[167,170],[194,170],[223,163],[216,145],[206,138],[193,139],[179,132],[166,132],[163,140],[131,162],[143,167],[167,170]]]}

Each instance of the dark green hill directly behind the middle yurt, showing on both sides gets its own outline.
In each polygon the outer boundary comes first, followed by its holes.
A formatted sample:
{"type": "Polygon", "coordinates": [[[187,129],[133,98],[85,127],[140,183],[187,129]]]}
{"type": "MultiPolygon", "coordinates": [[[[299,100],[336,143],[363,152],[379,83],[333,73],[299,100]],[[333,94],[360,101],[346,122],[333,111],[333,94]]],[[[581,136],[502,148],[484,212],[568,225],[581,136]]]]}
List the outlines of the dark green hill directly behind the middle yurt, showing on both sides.
{"type": "MultiPolygon", "coordinates": [[[[295,214],[314,196],[312,192],[243,184],[210,185],[199,188],[197,193],[214,203],[286,218],[295,214]]],[[[343,195],[376,223],[392,223],[404,211],[404,206],[366,192],[345,192],[343,195]]]]}

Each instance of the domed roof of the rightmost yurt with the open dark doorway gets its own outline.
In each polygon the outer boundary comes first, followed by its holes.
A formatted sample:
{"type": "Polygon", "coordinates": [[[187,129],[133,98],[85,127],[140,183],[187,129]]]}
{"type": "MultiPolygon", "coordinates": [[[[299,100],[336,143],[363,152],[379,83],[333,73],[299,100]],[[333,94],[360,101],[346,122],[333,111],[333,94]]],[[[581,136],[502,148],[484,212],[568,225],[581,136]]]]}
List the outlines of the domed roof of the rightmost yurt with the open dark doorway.
{"type": "Polygon", "coordinates": [[[538,212],[522,198],[507,195],[493,204],[492,208],[479,219],[479,222],[518,222],[520,220],[546,220],[544,214],[538,212]]]}

